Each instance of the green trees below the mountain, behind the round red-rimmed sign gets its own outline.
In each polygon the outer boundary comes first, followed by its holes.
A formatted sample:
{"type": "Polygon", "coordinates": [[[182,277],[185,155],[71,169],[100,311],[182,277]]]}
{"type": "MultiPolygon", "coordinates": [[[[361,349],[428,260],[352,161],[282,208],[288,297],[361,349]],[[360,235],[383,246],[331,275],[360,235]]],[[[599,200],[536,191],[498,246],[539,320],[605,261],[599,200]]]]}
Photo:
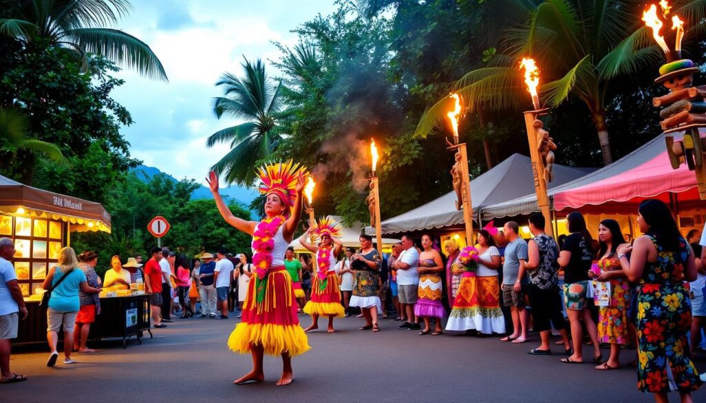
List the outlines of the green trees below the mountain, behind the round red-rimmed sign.
{"type": "MultiPolygon", "coordinates": [[[[217,250],[225,246],[233,253],[247,251],[250,237],[223,222],[211,199],[191,200],[196,181],[173,181],[164,174],[155,175],[147,183],[136,174],[128,174],[126,181],[114,188],[105,207],[112,212],[112,235],[85,232],[75,234],[72,243],[80,250],[100,251],[101,258],[121,255],[126,258],[147,255],[157,240],[147,231],[152,217],[161,215],[171,224],[162,246],[196,255],[201,251],[217,250]]],[[[244,206],[230,203],[234,215],[250,219],[244,206]]],[[[109,260],[101,260],[109,264],[109,260]]]]}

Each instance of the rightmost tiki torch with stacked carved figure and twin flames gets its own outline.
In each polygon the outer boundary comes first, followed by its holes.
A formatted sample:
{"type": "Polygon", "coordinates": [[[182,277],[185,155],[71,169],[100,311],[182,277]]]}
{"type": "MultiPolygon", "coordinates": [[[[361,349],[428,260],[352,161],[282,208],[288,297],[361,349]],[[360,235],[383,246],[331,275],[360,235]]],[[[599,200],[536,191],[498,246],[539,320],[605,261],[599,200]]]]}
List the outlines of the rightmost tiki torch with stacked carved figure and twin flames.
{"type": "Polygon", "coordinates": [[[662,107],[659,122],[664,131],[666,151],[673,169],[686,164],[696,174],[699,198],[706,200],[706,139],[701,138],[699,128],[706,127],[706,91],[692,87],[693,76],[699,69],[689,59],[681,58],[681,42],[684,38],[684,22],[679,16],[671,17],[671,30],[675,31],[674,50],[669,47],[661,34],[662,27],[669,22],[671,7],[669,2],[659,2],[662,18],[657,13],[657,5],[652,4],[642,13],[645,26],[652,29],[652,37],[664,52],[666,64],[659,68],[660,76],[654,80],[662,84],[669,93],[652,99],[655,107],[662,107]],[[662,20],[664,18],[664,21],[662,20]],[[681,140],[674,140],[674,133],[683,133],[681,140]]]}

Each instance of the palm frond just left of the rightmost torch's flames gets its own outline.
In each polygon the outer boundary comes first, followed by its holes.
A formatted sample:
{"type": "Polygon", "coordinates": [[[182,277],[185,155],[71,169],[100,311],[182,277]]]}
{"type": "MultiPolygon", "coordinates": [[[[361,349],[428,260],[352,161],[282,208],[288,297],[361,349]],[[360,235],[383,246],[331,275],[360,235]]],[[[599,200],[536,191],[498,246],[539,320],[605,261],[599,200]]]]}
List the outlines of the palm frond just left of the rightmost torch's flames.
{"type": "Polygon", "coordinates": [[[615,78],[635,73],[647,64],[657,64],[661,57],[662,50],[653,44],[652,33],[648,28],[642,27],[606,54],[599,61],[597,71],[601,78],[615,78]]]}

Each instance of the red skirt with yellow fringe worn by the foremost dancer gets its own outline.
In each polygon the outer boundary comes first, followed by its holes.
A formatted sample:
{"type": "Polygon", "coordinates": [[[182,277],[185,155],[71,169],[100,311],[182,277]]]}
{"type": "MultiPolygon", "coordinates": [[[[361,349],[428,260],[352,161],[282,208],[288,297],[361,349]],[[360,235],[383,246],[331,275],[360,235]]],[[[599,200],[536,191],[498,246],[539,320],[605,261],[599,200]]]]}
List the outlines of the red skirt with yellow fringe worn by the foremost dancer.
{"type": "Polygon", "coordinates": [[[257,301],[257,282],[249,282],[242,322],[228,338],[229,349],[246,354],[253,346],[261,346],[270,356],[304,354],[311,347],[299,325],[292,279],[285,267],[279,266],[270,269],[264,281],[265,299],[261,303],[257,301]]]}

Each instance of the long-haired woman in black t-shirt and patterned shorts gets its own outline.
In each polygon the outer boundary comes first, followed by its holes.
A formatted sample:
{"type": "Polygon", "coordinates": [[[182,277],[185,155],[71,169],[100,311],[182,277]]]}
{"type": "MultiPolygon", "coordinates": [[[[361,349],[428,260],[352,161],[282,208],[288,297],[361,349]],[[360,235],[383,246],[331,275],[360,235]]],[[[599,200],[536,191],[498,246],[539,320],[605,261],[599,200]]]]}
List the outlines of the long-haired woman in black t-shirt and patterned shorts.
{"type": "Polygon", "coordinates": [[[571,339],[573,354],[562,359],[565,363],[582,363],[583,356],[581,345],[583,330],[581,321],[586,325],[588,335],[593,342],[593,362],[600,363],[603,359],[598,344],[596,323],[591,317],[587,306],[586,292],[589,287],[588,271],[593,262],[593,238],[586,228],[586,220],[580,212],[570,212],[566,217],[566,225],[570,233],[564,240],[564,245],[559,252],[557,263],[564,270],[564,303],[571,326],[571,339]]]}

